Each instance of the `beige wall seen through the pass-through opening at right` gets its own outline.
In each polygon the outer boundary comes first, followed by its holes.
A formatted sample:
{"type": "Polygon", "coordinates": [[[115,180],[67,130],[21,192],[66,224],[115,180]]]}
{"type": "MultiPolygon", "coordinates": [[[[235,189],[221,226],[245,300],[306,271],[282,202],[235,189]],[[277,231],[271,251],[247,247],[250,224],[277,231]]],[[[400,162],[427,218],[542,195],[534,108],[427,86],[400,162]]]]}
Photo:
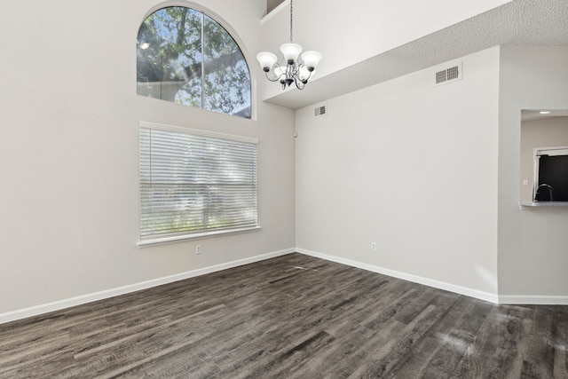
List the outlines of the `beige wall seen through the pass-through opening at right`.
{"type": "Polygon", "coordinates": [[[568,146],[568,117],[553,117],[521,123],[520,201],[533,200],[534,149],[552,146],[568,146]]]}

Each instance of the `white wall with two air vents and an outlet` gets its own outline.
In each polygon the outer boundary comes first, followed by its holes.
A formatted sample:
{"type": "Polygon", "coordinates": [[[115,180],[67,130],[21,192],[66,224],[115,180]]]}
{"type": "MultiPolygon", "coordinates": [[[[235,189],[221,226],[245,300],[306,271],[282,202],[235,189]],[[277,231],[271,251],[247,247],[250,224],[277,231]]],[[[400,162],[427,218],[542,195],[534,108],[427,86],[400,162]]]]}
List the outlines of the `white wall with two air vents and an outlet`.
{"type": "Polygon", "coordinates": [[[299,248],[496,296],[499,48],[461,61],[296,112],[299,248]]]}

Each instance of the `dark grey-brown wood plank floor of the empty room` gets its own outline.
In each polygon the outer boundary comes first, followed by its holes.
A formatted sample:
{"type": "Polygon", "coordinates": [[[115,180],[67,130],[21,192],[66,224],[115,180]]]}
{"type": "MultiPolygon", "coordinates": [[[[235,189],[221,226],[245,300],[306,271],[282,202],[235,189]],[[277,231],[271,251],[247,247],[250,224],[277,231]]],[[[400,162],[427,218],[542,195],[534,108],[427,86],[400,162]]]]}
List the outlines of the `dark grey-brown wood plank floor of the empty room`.
{"type": "Polygon", "coordinates": [[[568,378],[568,306],[291,254],[0,325],[2,378],[568,378]]]}

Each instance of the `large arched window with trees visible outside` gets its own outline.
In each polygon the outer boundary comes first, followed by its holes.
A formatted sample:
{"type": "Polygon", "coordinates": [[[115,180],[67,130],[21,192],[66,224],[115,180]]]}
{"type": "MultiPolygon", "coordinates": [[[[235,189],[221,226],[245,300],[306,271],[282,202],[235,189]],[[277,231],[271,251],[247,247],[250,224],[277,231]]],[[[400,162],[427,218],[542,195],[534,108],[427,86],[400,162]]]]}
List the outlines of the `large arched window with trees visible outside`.
{"type": "Polygon", "coordinates": [[[250,73],[233,37],[208,15],[162,8],[140,26],[138,95],[250,118],[250,73]]]}

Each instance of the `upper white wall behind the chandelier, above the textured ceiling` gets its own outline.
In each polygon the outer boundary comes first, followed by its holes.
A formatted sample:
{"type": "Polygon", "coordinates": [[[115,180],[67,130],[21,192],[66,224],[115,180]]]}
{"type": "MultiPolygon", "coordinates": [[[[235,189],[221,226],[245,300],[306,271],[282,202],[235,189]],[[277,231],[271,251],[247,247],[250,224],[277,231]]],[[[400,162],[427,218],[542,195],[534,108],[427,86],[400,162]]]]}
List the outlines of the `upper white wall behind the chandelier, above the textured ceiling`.
{"type": "MultiPolygon", "coordinates": [[[[327,0],[294,2],[294,42],[317,50],[324,59],[319,77],[350,67],[422,36],[430,35],[511,0],[352,0],[349,4],[327,0]]],[[[261,48],[278,51],[289,41],[289,1],[265,20],[261,48]]],[[[267,98],[279,93],[267,84],[267,98]]]]}

